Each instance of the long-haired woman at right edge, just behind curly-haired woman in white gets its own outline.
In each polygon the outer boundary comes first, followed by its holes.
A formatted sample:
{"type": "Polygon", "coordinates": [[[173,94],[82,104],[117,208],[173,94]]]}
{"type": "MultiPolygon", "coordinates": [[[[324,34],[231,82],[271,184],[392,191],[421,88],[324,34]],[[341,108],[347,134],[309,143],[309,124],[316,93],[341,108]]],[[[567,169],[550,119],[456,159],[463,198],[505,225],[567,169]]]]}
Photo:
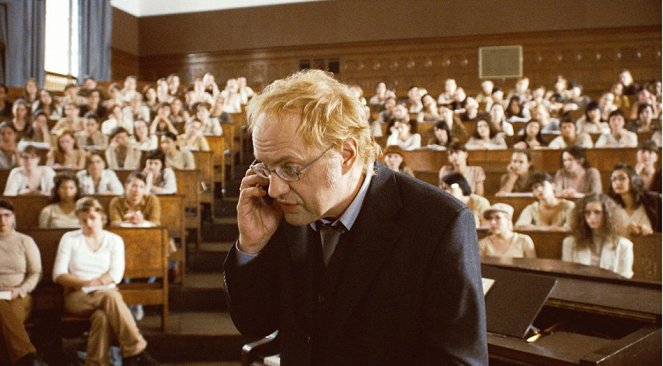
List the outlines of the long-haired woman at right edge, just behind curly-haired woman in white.
{"type": "Polygon", "coordinates": [[[623,163],[615,165],[608,196],[626,211],[631,234],[661,232],[661,195],[645,191],[644,182],[633,167],[623,163]]]}

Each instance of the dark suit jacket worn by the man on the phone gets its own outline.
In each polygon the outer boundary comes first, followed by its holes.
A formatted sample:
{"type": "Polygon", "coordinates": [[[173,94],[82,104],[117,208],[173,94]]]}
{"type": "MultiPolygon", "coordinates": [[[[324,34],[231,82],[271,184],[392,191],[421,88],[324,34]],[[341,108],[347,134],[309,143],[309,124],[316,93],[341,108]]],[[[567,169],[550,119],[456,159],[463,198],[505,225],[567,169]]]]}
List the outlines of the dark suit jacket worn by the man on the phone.
{"type": "Polygon", "coordinates": [[[488,364],[474,217],[458,200],[378,165],[320,281],[316,240],[284,222],[256,259],[226,259],[235,325],[278,329],[284,365],[488,364]]]}

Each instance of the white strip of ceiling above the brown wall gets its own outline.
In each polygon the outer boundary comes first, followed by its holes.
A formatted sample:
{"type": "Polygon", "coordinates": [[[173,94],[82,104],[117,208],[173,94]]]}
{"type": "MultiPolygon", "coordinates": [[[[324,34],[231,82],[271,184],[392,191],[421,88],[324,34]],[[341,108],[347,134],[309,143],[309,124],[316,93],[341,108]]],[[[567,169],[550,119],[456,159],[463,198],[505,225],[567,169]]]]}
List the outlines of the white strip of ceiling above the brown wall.
{"type": "Polygon", "coordinates": [[[324,0],[111,0],[111,5],[135,17],[196,13],[324,0]]]}

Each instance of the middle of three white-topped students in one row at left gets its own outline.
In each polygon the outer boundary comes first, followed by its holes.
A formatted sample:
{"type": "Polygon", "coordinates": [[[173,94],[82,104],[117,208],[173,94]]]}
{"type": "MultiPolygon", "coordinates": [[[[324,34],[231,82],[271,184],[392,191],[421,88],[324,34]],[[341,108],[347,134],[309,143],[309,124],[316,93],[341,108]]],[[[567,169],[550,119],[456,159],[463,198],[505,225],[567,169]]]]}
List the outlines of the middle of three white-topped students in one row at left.
{"type": "Polygon", "coordinates": [[[102,151],[92,151],[87,156],[86,169],[76,173],[81,194],[112,194],[124,193],[122,183],[117,174],[111,169],[106,169],[102,151]]]}

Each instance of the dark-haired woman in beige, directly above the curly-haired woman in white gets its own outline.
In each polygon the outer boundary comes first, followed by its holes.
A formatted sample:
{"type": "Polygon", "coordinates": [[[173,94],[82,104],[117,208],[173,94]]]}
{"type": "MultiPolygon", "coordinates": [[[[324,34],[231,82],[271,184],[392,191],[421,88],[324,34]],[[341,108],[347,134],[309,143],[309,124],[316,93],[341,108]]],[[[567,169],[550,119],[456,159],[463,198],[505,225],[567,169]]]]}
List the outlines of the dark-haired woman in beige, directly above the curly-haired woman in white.
{"type": "Polygon", "coordinates": [[[588,193],[601,193],[601,175],[587,161],[585,149],[571,146],[561,155],[562,167],[555,173],[555,194],[558,197],[576,199],[588,193]]]}

